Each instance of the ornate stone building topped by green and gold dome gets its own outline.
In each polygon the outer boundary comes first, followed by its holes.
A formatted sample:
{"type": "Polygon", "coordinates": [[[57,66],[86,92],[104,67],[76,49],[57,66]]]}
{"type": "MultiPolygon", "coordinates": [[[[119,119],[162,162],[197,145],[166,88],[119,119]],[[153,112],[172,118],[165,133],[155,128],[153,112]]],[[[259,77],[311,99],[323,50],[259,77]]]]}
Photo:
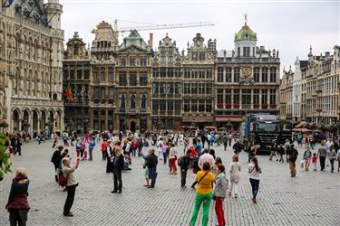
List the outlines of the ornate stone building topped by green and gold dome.
{"type": "Polygon", "coordinates": [[[235,50],[221,51],[215,64],[215,121],[218,127],[240,122],[246,113],[278,114],[278,51],[257,47],[248,24],[235,34],[235,50]]]}

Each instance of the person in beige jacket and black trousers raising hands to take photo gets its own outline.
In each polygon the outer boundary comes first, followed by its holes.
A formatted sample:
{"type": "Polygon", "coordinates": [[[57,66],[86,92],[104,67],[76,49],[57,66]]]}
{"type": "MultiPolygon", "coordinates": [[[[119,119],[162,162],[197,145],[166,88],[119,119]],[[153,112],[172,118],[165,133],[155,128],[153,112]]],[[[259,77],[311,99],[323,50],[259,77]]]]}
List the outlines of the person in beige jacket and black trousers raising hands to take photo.
{"type": "Polygon", "coordinates": [[[73,201],[74,201],[74,194],[75,194],[75,188],[78,186],[78,183],[75,180],[74,177],[74,171],[79,167],[80,158],[77,157],[74,160],[73,165],[70,165],[71,159],[70,157],[64,157],[63,158],[63,175],[66,178],[66,191],[67,191],[67,197],[65,204],[63,205],[63,216],[65,217],[73,217],[73,212],[70,212],[73,201]]]}

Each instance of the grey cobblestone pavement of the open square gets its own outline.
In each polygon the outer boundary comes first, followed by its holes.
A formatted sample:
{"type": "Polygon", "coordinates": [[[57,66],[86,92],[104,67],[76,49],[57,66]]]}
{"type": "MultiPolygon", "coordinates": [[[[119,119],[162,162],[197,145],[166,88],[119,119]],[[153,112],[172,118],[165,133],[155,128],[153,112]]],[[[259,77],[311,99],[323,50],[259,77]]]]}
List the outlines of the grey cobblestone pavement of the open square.
{"type": "MultiPolygon", "coordinates": [[[[195,193],[189,188],[180,189],[180,174],[169,174],[168,166],[160,163],[156,187],[144,188],[143,161],[132,157],[132,171],[122,174],[122,194],[112,194],[112,174],[105,173],[106,162],[102,161],[99,146],[94,160],[82,161],[75,173],[79,186],[72,209],[74,217],[63,217],[66,193],[53,182],[51,146],[49,142],[40,146],[35,142],[25,144],[23,155],[12,158],[14,169],[24,166],[29,172],[28,225],[189,225],[195,193]]],[[[231,148],[228,151],[223,151],[222,146],[213,148],[223,163],[229,165],[231,148]]],[[[178,149],[181,154],[182,147],[178,149]]],[[[303,150],[299,149],[299,153],[296,163],[303,150]]],[[[74,159],[74,151],[72,154],[74,159]]],[[[286,163],[269,161],[267,155],[258,158],[263,171],[258,203],[250,202],[248,157],[243,152],[238,199],[225,200],[228,225],[340,225],[340,174],[331,174],[329,166],[325,172],[305,172],[298,168],[296,178],[292,179],[286,163]]],[[[6,175],[0,182],[0,225],[9,224],[5,202],[12,176],[6,175]]],[[[187,185],[194,181],[194,174],[189,173],[188,177],[187,185]]],[[[217,224],[213,205],[209,222],[217,224]]]]}

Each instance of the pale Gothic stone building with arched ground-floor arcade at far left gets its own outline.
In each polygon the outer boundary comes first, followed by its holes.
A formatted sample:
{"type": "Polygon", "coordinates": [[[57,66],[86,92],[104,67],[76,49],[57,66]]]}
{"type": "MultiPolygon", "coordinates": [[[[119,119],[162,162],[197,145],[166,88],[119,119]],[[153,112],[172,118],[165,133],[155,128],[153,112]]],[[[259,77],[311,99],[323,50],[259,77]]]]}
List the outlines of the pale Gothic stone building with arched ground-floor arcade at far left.
{"type": "Polygon", "coordinates": [[[59,0],[15,0],[1,9],[6,89],[0,98],[9,131],[63,129],[62,13],[59,0]]]}

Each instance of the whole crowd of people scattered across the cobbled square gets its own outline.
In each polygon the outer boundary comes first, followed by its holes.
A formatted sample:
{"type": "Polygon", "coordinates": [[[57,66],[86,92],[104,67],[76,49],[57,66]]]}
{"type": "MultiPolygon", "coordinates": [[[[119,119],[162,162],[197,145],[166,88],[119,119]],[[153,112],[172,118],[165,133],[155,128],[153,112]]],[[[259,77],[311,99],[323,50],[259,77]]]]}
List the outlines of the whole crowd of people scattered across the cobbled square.
{"type": "MultiPolygon", "coordinates": [[[[53,148],[58,145],[58,136],[53,133],[53,148]]],[[[39,140],[38,140],[39,142],[39,140]]],[[[130,171],[132,160],[141,157],[144,161],[143,178],[144,186],[154,188],[158,176],[157,167],[162,163],[169,167],[169,174],[178,174],[180,170],[180,188],[187,188],[187,175],[189,171],[196,174],[194,182],[189,186],[196,191],[194,209],[192,212],[190,225],[195,225],[200,206],[203,205],[202,225],[208,225],[210,202],[215,202],[215,212],[219,225],[226,225],[224,216],[223,201],[226,196],[238,199],[238,184],[240,180],[241,165],[238,161],[239,153],[243,150],[248,152],[248,178],[252,188],[250,201],[257,203],[257,193],[259,188],[260,174],[262,169],[257,160],[258,146],[255,142],[243,146],[238,139],[236,131],[225,133],[215,133],[214,131],[197,131],[195,137],[189,140],[189,137],[183,133],[149,133],[142,137],[139,133],[128,133],[124,135],[120,132],[114,135],[109,132],[102,134],[87,133],[84,137],[77,137],[74,131],[63,135],[63,146],[57,146],[53,152],[51,162],[53,163],[54,180],[63,191],[67,192],[67,197],[63,206],[64,216],[73,216],[71,212],[75,190],[78,186],[74,172],[78,169],[81,161],[93,160],[93,149],[100,144],[102,151],[102,161],[106,161],[105,172],[112,174],[112,193],[122,193],[122,172],[130,171]],[[69,140],[71,142],[69,142],[69,140]],[[191,142],[190,142],[191,141],[191,142]],[[230,160],[230,165],[222,162],[219,153],[216,153],[214,146],[222,146],[227,151],[228,146],[234,154],[230,160]],[[180,146],[184,146],[183,153],[179,151],[180,146]],[[69,151],[71,150],[71,152],[69,151]],[[71,164],[73,153],[77,156],[71,164]],[[160,162],[159,162],[160,161],[160,162]]],[[[306,151],[303,154],[301,165],[303,164],[306,171],[309,171],[309,165],[312,162],[314,171],[316,171],[317,162],[319,162],[321,171],[325,169],[326,159],[331,165],[331,172],[335,170],[335,160],[340,169],[340,152],[339,143],[336,140],[323,140],[320,148],[316,153],[313,149],[310,139],[301,139],[301,144],[305,146],[306,151]]],[[[21,136],[13,135],[8,149],[10,153],[21,155],[21,136]],[[20,144],[20,145],[19,145],[20,144]]],[[[279,163],[289,163],[291,176],[296,176],[296,160],[298,152],[293,142],[287,140],[285,144],[277,145],[273,141],[271,155],[269,160],[276,157],[279,163]],[[284,157],[286,155],[286,159],[284,157]]],[[[29,205],[27,202],[29,180],[27,171],[19,167],[15,173],[15,179],[9,195],[6,209],[10,212],[10,221],[24,223],[27,220],[29,205]]],[[[15,225],[15,224],[13,224],[15,225]]],[[[24,224],[21,224],[24,225],[24,224]]]]}

